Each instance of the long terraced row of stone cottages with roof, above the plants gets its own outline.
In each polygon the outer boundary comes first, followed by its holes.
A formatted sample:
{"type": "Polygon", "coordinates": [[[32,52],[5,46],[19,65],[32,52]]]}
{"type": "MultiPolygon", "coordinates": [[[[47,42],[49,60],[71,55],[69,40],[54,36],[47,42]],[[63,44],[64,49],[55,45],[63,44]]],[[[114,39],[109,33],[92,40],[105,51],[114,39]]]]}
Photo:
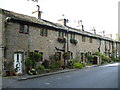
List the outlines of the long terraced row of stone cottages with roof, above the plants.
{"type": "MultiPolygon", "coordinates": [[[[52,23],[43,19],[0,9],[0,60],[1,68],[10,70],[19,64],[18,73],[24,73],[25,55],[28,52],[42,54],[40,62],[55,53],[63,60],[69,51],[71,58],[85,53],[113,52],[118,57],[120,42],[97,34],[68,27],[66,19],[52,23]],[[66,40],[66,42],[65,42],[66,40]]],[[[110,53],[109,53],[110,56],[110,53]]]]}

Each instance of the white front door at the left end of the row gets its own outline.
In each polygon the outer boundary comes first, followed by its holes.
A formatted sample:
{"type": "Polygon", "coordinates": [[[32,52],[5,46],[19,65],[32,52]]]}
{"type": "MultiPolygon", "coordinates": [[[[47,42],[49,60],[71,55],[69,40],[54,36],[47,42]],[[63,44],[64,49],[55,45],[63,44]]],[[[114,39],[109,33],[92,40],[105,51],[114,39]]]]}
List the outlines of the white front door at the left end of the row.
{"type": "Polygon", "coordinates": [[[17,73],[22,73],[23,53],[14,54],[14,69],[17,73]]]}

